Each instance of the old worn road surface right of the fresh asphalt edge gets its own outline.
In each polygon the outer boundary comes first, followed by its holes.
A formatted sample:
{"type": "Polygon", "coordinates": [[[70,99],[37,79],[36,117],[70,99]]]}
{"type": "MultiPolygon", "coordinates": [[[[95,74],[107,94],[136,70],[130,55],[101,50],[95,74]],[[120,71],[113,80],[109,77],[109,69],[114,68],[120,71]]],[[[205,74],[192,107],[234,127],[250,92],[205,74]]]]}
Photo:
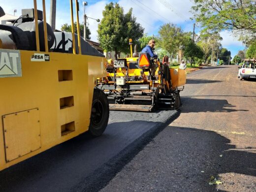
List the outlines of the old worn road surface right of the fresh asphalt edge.
{"type": "Polygon", "coordinates": [[[256,192],[256,81],[237,71],[189,74],[179,118],[101,192],[256,192]],[[210,186],[211,176],[223,184],[210,186]]]}

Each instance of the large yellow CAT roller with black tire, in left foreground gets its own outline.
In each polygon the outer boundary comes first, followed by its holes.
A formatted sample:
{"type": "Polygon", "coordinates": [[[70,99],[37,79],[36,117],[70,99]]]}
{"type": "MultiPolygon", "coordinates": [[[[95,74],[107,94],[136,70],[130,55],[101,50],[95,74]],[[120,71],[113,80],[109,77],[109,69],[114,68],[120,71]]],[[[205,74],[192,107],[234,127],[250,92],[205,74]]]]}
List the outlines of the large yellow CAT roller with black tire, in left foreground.
{"type": "MultiPolygon", "coordinates": [[[[99,136],[109,108],[95,86],[106,59],[74,33],[53,32],[43,11],[23,9],[0,25],[0,170],[85,131],[99,136]]],[[[78,0],[75,0],[78,19],[78,0]]],[[[0,16],[4,15],[0,7],[0,16]]]]}

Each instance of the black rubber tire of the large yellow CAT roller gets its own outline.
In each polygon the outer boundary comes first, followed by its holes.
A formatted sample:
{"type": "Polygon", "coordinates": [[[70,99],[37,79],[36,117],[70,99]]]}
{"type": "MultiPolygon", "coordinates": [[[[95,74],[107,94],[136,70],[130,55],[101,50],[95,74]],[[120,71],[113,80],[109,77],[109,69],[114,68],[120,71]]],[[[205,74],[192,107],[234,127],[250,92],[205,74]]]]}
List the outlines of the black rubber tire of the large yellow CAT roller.
{"type": "Polygon", "coordinates": [[[100,136],[107,127],[109,118],[109,105],[107,96],[99,89],[94,89],[92,102],[91,121],[89,133],[92,136],[100,136]]]}

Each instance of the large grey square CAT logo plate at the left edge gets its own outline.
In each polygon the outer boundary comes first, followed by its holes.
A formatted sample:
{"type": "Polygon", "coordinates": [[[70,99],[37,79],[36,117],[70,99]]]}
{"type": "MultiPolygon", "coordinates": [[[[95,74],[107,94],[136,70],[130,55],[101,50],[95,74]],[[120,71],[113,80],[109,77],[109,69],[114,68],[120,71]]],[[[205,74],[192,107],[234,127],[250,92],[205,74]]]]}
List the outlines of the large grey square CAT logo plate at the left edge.
{"type": "Polygon", "coordinates": [[[0,77],[21,77],[20,51],[0,49],[0,77]]]}

